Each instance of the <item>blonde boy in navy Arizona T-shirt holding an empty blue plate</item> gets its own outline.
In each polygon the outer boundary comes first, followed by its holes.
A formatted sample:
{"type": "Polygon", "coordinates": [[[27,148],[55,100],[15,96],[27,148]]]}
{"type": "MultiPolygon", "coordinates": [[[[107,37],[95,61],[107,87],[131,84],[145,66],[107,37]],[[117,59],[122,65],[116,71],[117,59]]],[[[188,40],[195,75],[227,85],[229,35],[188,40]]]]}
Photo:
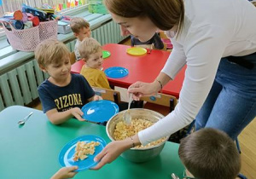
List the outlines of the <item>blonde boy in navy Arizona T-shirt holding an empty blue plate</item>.
{"type": "Polygon", "coordinates": [[[38,66],[49,74],[39,85],[38,94],[52,124],[61,124],[73,117],[84,121],[80,108],[87,101],[100,99],[82,75],[70,73],[69,54],[67,46],[55,39],[45,40],[35,49],[38,66]]]}

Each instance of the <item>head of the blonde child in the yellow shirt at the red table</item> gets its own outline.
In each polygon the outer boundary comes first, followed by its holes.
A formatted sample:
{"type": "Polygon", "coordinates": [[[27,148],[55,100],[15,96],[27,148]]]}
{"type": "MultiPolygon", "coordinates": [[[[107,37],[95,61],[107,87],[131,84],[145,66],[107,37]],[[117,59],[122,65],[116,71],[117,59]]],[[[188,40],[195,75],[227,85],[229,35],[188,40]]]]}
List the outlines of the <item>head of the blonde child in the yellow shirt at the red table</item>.
{"type": "Polygon", "coordinates": [[[84,38],[79,45],[79,53],[86,62],[86,66],[96,69],[102,68],[102,45],[96,39],[84,38]]]}

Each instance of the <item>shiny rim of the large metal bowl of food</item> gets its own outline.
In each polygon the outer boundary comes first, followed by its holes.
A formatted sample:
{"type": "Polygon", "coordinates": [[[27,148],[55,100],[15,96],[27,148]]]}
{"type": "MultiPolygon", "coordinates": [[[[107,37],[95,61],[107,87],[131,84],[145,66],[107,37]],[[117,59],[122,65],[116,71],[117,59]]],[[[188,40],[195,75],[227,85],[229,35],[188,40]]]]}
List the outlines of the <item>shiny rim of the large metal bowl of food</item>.
{"type": "MultiPolygon", "coordinates": [[[[127,111],[127,110],[128,110],[128,109],[126,109],[126,110],[124,110],[124,111],[121,111],[121,112],[119,112],[119,113],[125,113],[125,111],[127,111]]],[[[130,110],[143,110],[143,111],[153,112],[153,113],[157,113],[158,115],[160,115],[160,117],[161,117],[160,119],[165,118],[165,116],[164,116],[163,114],[158,113],[158,112],[155,112],[155,111],[150,110],[150,109],[145,109],[145,108],[132,108],[132,109],[130,109],[130,110]]],[[[110,134],[108,134],[108,125],[110,124],[109,121],[111,121],[111,119],[114,118],[115,116],[117,116],[119,113],[114,114],[113,117],[111,117],[111,118],[108,120],[108,123],[107,123],[107,125],[106,125],[106,132],[107,132],[108,138],[109,138],[111,141],[116,141],[116,140],[114,140],[113,137],[110,136],[110,134]]],[[[171,136],[171,135],[170,135],[170,136],[171,136]]],[[[150,146],[150,147],[143,147],[143,148],[131,147],[130,150],[143,151],[143,150],[150,150],[150,149],[154,149],[154,148],[156,148],[156,147],[160,147],[161,145],[165,145],[165,144],[166,144],[166,141],[168,141],[168,138],[169,138],[170,136],[166,136],[166,140],[160,142],[160,143],[157,144],[157,145],[150,146]]],[[[162,137],[162,138],[163,138],[163,137],[162,137]]]]}

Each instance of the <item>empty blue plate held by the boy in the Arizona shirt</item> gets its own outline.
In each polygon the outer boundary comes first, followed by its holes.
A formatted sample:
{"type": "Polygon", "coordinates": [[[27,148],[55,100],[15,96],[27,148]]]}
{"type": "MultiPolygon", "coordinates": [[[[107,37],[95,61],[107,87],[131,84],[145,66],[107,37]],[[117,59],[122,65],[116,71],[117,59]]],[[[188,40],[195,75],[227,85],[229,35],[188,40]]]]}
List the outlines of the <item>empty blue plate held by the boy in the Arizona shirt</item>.
{"type": "Polygon", "coordinates": [[[91,122],[102,123],[108,121],[114,114],[119,113],[119,106],[113,101],[91,101],[82,107],[82,118],[91,122]]]}

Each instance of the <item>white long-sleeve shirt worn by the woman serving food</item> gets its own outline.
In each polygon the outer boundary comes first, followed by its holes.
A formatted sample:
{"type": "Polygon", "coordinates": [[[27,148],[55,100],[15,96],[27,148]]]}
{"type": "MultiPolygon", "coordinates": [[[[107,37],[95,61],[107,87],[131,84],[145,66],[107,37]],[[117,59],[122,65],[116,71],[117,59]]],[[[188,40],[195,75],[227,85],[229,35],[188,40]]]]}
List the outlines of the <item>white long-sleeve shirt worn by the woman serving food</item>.
{"type": "Polygon", "coordinates": [[[175,78],[187,64],[180,98],[172,113],[138,133],[143,145],[169,136],[195,119],[225,56],[256,51],[256,8],[247,0],[184,0],[183,30],[172,39],[172,54],[161,72],[175,78]]]}

